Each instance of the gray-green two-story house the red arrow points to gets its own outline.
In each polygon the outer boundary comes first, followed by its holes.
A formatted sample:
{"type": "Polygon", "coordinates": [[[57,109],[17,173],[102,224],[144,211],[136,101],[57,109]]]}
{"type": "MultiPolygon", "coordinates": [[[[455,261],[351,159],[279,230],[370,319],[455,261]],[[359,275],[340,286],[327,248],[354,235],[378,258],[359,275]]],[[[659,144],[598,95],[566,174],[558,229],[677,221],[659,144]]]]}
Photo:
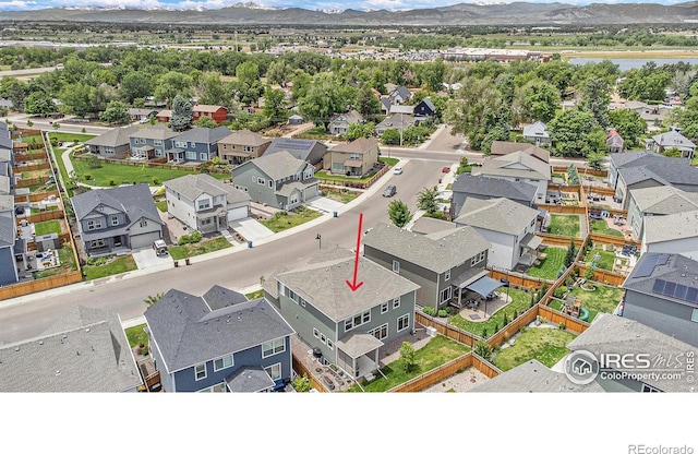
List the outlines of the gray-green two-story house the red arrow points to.
{"type": "Polygon", "coordinates": [[[378,369],[381,347],[414,327],[419,286],[366,258],[354,262],[353,253],[339,248],[279,270],[263,287],[320,362],[337,365],[354,379],[378,369]],[[356,291],[347,284],[352,275],[362,283],[356,291]]]}

